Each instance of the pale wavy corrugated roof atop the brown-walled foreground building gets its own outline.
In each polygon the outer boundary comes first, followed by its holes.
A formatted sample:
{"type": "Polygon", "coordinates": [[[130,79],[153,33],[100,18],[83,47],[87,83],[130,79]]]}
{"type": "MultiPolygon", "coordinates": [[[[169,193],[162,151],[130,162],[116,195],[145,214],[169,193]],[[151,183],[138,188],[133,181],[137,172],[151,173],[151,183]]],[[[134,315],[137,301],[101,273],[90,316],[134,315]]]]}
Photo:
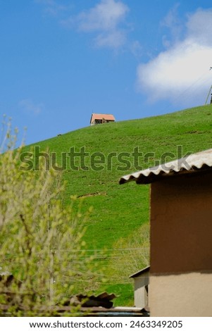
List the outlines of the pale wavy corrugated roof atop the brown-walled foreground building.
{"type": "Polygon", "coordinates": [[[194,173],[198,170],[204,170],[212,167],[212,149],[206,151],[199,151],[198,153],[191,154],[185,158],[179,158],[175,161],[163,163],[156,167],[148,168],[145,170],[137,171],[120,178],[119,183],[124,184],[135,180],[137,184],[149,184],[160,177],[168,175],[178,175],[182,173],[194,173]]]}

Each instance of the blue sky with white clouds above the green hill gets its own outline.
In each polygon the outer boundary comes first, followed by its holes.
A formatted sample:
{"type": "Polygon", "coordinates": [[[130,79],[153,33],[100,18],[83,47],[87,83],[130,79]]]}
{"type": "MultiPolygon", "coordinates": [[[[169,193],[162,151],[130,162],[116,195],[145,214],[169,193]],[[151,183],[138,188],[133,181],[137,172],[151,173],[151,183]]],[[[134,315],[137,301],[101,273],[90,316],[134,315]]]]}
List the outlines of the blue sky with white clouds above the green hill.
{"type": "Polygon", "coordinates": [[[0,115],[26,143],[204,104],[209,0],[0,0],[0,115]]]}

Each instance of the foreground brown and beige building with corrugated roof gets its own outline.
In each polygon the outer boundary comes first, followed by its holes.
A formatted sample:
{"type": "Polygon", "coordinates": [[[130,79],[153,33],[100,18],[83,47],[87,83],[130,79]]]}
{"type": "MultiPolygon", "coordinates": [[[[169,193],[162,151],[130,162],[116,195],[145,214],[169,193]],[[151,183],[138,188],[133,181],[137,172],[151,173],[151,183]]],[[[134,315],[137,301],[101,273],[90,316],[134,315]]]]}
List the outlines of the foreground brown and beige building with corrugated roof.
{"type": "Polygon", "coordinates": [[[151,184],[150,315],[212,316],[212,149],[131,180],[151,184]]]}

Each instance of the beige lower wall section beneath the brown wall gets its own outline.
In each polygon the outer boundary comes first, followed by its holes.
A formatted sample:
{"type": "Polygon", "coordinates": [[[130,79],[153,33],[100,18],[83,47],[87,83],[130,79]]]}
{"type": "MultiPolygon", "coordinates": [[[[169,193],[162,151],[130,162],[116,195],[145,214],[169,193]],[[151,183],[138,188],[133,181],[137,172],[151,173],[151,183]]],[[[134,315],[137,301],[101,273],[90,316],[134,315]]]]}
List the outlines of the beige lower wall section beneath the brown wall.
{"type": "Polygon", "coordinates": [[[212,273],[151,275],[150,316],[212,316],[212,273]]]}

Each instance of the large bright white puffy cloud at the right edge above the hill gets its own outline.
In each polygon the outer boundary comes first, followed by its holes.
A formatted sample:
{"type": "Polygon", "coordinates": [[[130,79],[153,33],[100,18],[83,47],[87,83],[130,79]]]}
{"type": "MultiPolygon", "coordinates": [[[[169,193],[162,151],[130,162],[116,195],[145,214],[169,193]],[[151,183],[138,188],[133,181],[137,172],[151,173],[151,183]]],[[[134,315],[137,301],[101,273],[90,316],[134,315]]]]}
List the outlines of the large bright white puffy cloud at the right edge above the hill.
{"type": "Polygon", "coordinates": [[[166,51],[137,68],[139,89],[151,101],[204,104],[212,83],[212,10],[199,9],[187,16],[186,34],[166,51]]]}

